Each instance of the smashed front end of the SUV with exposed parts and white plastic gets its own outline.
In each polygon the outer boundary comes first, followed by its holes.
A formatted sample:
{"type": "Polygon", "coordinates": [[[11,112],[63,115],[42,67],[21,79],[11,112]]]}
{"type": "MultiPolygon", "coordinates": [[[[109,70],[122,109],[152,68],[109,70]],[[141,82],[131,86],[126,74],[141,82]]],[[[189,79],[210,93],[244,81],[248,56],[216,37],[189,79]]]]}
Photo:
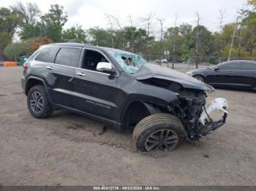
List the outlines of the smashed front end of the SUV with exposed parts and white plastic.
{"type": "Polygon", "coordinates": [[[227,101],[225,98],[216,98],[206,109],[206,93],[199,90],[183,91],[178,94],[180,103],[170,106],[169,110],[183,122],[187,130],[187,137],[198,140],[217,130],[225,124],[227,118],[227,101]],[[214,121],[210,114],[214,110],[223,112],[221,119],[214,121]]]}

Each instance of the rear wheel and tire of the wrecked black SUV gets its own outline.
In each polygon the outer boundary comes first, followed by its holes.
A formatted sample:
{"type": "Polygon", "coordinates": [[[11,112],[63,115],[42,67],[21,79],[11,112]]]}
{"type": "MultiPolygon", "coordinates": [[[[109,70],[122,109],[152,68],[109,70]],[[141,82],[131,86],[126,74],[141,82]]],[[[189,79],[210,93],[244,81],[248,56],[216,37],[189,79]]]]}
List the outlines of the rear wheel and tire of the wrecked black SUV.
{"type": "Polygon", "coordinates": [[[50,117],[53,114],[53,108],[48,100],[45,87],[42,85],[31,87],[27,97],[27,105],[29,112],[38,119],[50,117]]]}

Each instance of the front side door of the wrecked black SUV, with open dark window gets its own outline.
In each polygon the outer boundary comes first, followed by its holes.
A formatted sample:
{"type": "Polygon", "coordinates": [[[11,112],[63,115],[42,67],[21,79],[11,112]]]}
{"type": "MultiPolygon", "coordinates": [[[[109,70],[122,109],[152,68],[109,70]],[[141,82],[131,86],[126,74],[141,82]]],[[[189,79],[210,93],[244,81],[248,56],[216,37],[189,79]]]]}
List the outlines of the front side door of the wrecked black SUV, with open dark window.
{"type": "Polygon", "coordinates": [[[97,63],[109,62],[105,55],[96,50],[86,50],[81,69],[75,71],[73,80],[75,98],[74,107],[81,112],[116,119],[118,106],[124,100],[118,87],[120,76],[97,71],[97,63]]]}

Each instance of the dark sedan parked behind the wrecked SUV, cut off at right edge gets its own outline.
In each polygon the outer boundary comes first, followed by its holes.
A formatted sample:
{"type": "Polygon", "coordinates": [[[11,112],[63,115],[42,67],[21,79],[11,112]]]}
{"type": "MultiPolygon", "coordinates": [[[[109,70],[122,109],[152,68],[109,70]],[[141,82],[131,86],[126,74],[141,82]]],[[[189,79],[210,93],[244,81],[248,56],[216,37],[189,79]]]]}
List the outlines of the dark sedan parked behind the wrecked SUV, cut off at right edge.
{"type": "Polygon", "coordinates": [[[191,70],[187,74],[216,87],[240,87],[256,90],[255,61],[227,61],[208,69],[191,70]]]}

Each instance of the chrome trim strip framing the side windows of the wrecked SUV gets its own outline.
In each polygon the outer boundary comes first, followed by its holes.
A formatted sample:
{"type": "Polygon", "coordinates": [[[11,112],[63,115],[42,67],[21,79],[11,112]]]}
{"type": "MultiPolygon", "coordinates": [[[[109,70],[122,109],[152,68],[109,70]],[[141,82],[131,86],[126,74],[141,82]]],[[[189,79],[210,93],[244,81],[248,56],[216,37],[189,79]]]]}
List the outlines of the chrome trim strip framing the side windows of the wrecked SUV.
{"type": "MultiPolygon", "coordinates": [[[[59,47],[59,46],[53,46],[53,47],[59,47]]],[[[65,47],[59,47],[59,48],[61,49],[61,48],[65,48],[65,47]]],[[[93,49],[93,48],[87,48],[87,47],[67,47],[67,48],[77,48],[77,49],[82,49],[82,50],[94,50],[94,51],[97,51],[97,52],[101,53],[102,55],[104,55],[105,58],[108,60],[108,62],[111,63],[110,60],[108,59],[108,57],[106,56],[106,54],[104,52],[100,51],[100,50],[96,50],[96,49],[93,49]]],[[[40,52],[41,52],[41,50],[37,53],[37,56],[39,55],[40,52]]],[[[35,56],[32,61],[36,61],[35,59],[37,58],[37,56],[35,56]]],[[[37,61],[37,62],[48,63],[48,62],[43,62],[43,61],[37,61]]],[[[82,69],[82,68],[78,68],[78,67],[66,66],[66,65],[57,64],[57,63],[49,63],[49,64],[53,64],[55,66],[64,66],[64,67],[71,68],[71,69],[79,69],[79,70],[84,70],[84,71],[91,71],[91,72],[95,72],[95,73],[98,73],[98,74],[105,74],[107,76],[110,76],[110,74],[102,72],[102,71],[94,71],[94,70],[89,70],[89,69],[82,69]]],[[[117,75],[115,77],[118,77],[119,76],[119,71],[116,69],[115,66],[113,66],[113,63],[111,63],[111,66],[117,72],[117,75]]]]}

